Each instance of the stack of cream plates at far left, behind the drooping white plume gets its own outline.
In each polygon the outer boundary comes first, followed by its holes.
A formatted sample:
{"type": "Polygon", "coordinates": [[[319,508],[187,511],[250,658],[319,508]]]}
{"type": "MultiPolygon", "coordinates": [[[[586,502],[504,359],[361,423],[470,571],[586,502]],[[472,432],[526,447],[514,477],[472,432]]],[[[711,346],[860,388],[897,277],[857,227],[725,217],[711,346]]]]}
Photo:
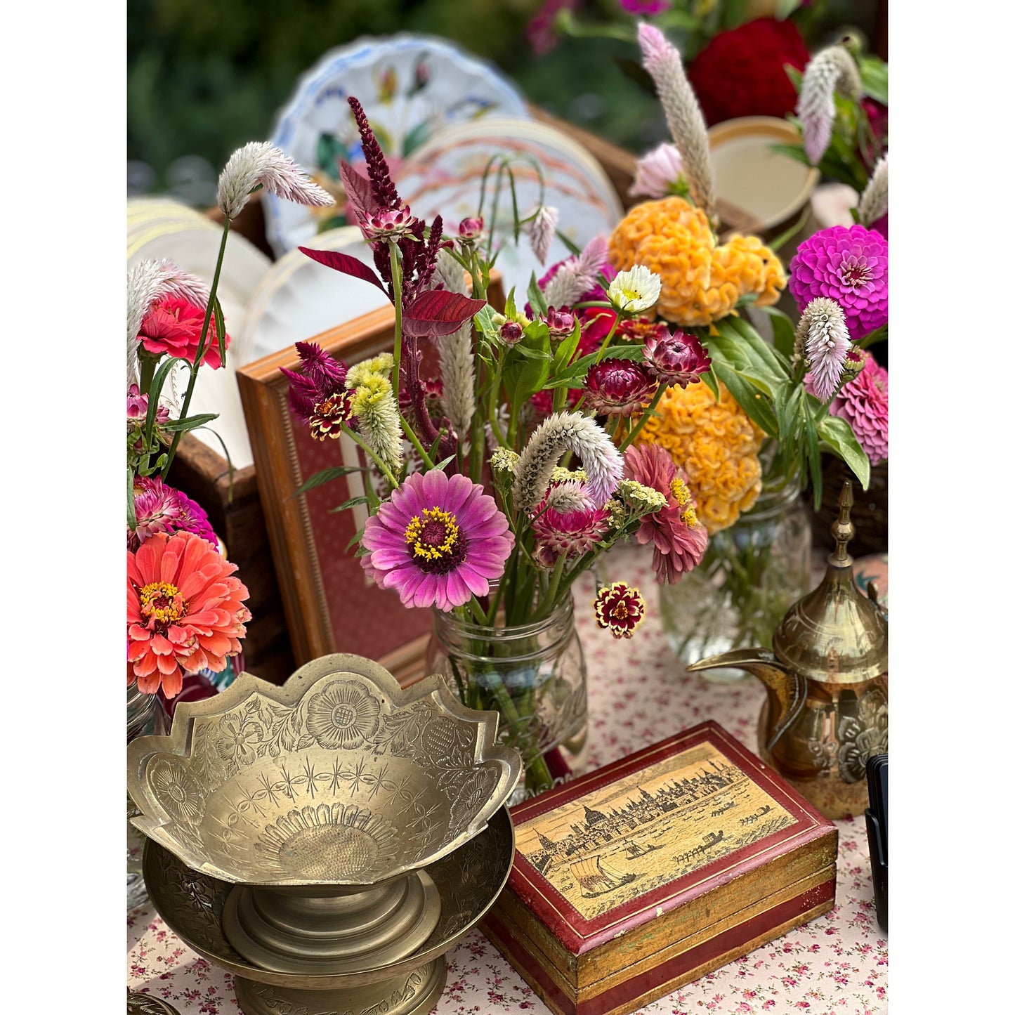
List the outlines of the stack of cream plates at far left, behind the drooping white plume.
{"type": "MultiPolygon", "coordinates": [[[[138,261],[168,258],[184,271],[210,283],[221,239],[220,226],[186,205],[165,198],[137,198],[127,202],[128,268],[138,261]]],[[[243,335],[247,308],[269,267],[271,262],[253,244],[238,233],[229,235],[218,281],[229,353],[224,369],[202,367],[198,371],[189,410],[192,415],[218,413],[218,419],[210,424],[214,433],[199,429],[194,436],[219,454],[221,437],[238,469],[252,464],[254,456],[240,403],[235,367],[246,361],[243,335]]]]}

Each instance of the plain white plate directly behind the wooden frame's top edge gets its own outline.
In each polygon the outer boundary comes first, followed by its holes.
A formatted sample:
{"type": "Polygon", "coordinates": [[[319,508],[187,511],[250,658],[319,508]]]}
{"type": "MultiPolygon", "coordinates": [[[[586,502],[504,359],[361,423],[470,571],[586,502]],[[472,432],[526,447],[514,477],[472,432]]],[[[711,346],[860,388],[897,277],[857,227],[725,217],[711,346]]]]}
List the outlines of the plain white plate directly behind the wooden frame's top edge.
{"type": "MultiPolygon", "coordinates": [[[[374,256],[355,226],[322,232],[311,246],[341,251],[373,268],[374,256]]],[[[261,359],[387,301],[376,285],[318,264],[298,250],[289,251],[271,266],[250,301],[242,336],[244,351],[235,363],[243,366],[261,359]]]]}

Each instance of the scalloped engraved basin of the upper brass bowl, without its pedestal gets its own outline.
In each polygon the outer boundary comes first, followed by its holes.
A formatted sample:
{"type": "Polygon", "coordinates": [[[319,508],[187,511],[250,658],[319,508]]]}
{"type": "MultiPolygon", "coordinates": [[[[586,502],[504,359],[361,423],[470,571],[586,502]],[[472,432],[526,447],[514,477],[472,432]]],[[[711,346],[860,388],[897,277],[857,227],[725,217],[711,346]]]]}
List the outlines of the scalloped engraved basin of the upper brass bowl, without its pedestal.
{"type": "Polygon", "coordinates": [[[482,830],[521,773],[497,716],[443,677],[403,691],[326,656],[283,687],[243,674],[128,749],[134,824],[189,866],[255,885],[367,885],[482,830]]]}

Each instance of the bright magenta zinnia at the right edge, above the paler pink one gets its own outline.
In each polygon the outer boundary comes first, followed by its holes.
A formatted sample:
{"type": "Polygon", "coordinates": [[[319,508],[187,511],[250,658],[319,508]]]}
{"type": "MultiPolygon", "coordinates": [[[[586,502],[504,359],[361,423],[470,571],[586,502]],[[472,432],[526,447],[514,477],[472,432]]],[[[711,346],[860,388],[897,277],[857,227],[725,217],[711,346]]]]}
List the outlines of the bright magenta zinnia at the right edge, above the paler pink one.
{"type": "Polygon", "coordinates": [[[888,323],[888,243],[863,225],[833,225],[805,240],[790,262],[790,292],[801,311],[834,299],[855,342],[888,323]]]}

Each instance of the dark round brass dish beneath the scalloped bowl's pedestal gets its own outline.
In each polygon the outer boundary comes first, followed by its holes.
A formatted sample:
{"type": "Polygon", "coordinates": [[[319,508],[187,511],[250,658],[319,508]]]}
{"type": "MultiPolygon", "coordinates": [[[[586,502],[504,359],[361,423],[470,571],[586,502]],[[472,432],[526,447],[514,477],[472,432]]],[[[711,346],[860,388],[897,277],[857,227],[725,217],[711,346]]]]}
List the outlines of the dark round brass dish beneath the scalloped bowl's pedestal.
{"type": "Polygon", "coordinates": [[[501,807],[483,831],[426,868],[441,895],[441,919],[429,937],[397,962],[336,974],[273,972],[245,959],[229,943],[222,927],[222,910],[232,885],[192,870],[157,842],[145,843],[144,881],[165,924],[208,961],[233,975],[262,984],[329,990],[408,974],[444,955],[493,904],[507,881],[514,856],[515,832],[507,809],[501,807]]]}

